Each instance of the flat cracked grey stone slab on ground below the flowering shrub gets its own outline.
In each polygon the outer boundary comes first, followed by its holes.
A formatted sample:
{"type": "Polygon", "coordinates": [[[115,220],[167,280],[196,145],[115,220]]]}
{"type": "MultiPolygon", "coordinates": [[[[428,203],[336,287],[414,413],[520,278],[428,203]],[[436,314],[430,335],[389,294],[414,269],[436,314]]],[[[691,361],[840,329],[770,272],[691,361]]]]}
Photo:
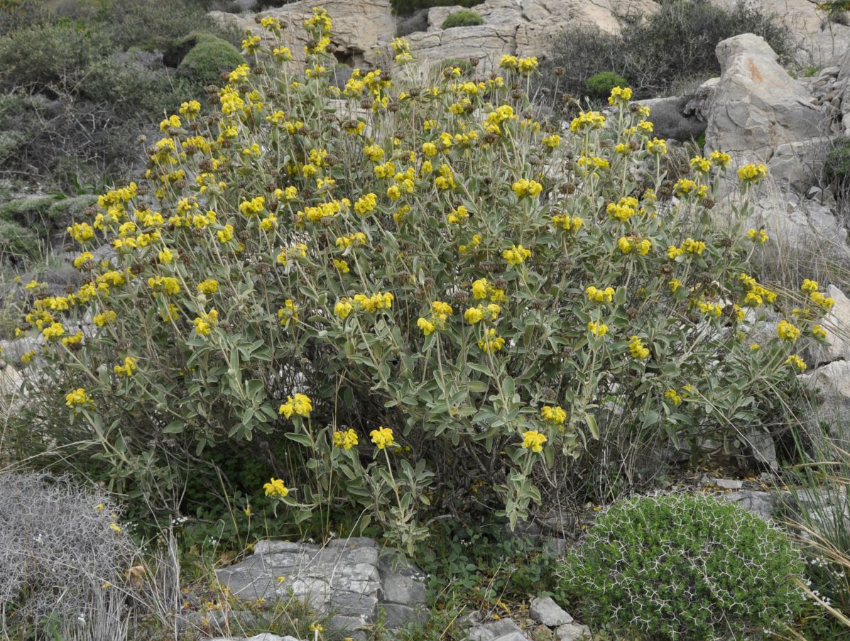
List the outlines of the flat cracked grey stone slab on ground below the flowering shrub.
{"type": "MultiPolygon", "coordinates": [[[[236,597],[249,601],[298,598],[331,614],[331,626],[356,630],[384,610],[390,629],[422,616],[425,579],[415,565],[394,567],[370,538],[331,541],[326,546],[258,542],[248,559],[216,572],[236,597]]],[[[261,640],[258,640],[261,641],[261,640]]]]}

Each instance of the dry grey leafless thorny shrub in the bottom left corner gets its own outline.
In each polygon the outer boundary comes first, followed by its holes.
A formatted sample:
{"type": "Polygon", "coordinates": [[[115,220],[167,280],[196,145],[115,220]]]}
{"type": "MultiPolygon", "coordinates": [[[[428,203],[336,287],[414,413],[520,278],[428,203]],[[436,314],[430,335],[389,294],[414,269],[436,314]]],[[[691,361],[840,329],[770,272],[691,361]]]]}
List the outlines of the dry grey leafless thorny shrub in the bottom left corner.
{"type": "Polygon", "coordinates": [[[117,511],[103,491],[82,489],[67,478],[0,474],[4,629],[57,621],[77,630],[99,627],[102,634],[126,627],[115,616],[126,594],[115,586],[136,548],[116,523],[117,511]]]}

